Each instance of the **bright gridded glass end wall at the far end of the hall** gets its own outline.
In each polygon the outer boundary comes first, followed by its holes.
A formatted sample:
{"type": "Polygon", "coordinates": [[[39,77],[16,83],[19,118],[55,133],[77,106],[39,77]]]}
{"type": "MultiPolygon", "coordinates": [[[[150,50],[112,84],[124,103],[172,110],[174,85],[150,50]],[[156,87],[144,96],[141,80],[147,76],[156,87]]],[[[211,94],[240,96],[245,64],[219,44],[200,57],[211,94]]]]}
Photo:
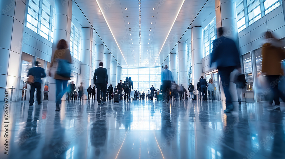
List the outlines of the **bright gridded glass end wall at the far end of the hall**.
{"type": "Polygon", "coordinates": [[[160,67],[151,68],[122,68],[121,80],[124,82],[126,77],[131,77],[134,83],[134,90],[146,93],[153,85],[160,90],[160,67]]]}

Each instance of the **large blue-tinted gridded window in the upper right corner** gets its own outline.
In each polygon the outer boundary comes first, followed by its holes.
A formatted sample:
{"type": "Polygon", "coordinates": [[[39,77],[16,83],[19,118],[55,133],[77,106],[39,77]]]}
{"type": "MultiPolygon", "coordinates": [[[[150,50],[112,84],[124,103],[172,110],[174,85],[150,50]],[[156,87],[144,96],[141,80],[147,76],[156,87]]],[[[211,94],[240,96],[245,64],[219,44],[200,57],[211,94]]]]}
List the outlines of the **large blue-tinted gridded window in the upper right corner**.
{"type": "Polygon", "coordinates": [[[281,5],[280,0],[236,0],[238,32],[281,5]]]}

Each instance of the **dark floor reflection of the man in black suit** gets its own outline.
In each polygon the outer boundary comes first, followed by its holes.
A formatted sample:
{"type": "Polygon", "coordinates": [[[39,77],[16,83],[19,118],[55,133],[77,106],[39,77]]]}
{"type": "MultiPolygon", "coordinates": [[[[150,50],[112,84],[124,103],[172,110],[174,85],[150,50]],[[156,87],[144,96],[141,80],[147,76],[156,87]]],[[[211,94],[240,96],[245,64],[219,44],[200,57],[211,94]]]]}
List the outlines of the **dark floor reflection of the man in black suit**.
{"type": "Polygon", "coordinates": [[[100,148],[105,145],[106,135],[106,108],[99,105],[96,112],[96,121],[92,123],[90,131],[91,146],[95,146],[96,156],[100,155],[100,148]]]}

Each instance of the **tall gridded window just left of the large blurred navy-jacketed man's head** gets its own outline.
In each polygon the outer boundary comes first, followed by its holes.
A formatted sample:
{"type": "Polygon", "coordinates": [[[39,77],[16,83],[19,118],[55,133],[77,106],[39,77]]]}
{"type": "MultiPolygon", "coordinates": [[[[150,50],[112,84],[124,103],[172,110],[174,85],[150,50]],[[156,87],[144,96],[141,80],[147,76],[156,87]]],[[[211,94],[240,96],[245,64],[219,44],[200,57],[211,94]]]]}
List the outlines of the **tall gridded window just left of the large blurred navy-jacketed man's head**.
{"type": "Polygon", "coordinates": [[[213,49],[213,41],[217,38],[216,18],[208,24],[203,30],[204,34],[204,57],[209,55],[213,49]]]}

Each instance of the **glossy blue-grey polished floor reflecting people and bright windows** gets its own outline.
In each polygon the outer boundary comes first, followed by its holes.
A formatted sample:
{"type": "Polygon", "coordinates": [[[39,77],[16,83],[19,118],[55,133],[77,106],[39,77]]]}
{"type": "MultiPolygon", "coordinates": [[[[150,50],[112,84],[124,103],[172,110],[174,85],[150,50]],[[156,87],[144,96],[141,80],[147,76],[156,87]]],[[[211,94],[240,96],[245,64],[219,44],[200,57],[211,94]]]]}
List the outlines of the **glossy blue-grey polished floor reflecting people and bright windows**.
{"type": "Polygon", "coordinates": [[[222,105],[129,101],[98,106],[84,100],[63,101],[62,111],[55,112],[54,102],[33,107],[10,102],[9,120],[3,114],[0,119],[0,158],[285,158],[284,111],[243,103],[225,114],[222,105]],[[6,139],[9,155],[4,154],[6,139]]]}

